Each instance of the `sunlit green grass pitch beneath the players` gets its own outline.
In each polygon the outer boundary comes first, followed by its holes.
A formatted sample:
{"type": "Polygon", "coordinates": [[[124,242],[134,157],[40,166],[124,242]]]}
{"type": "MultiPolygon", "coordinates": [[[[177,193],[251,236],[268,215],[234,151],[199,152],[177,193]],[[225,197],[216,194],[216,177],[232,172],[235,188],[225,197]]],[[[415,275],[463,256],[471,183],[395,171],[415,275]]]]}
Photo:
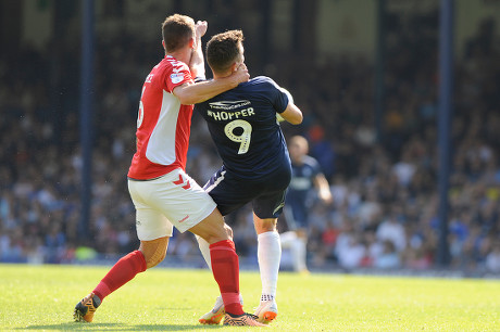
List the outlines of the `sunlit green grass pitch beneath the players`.
{"type": "MultiPolygon", "coordinates": [[[[105,298],[92,323],[75,304],[109,267],[0,265],[0,331],[208,331],[198,318],[217,295],[208,270],[151,269],[105,298]]],[[[245,309],[261,292],[241,272],[245,309]]],[[[270,331],[500,331],[500,281],[282,272],[270,331]]],[[[253,328],[255,329],[255,328],[253,328]]]]}

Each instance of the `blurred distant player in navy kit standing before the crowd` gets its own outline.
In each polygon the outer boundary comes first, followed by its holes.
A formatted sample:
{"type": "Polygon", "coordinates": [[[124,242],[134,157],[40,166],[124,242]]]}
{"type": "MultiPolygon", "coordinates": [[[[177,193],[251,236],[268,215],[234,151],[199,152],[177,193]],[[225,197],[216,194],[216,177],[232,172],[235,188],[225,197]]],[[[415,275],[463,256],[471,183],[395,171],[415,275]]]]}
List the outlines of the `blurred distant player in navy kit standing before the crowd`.
{"type": "Polygon", "coordinates": [[[285,218],[289,231],[282,234],[283,247],[290,248],[293,270],[309,272],[307,266],[309,209],[314,203],[314,193],[324,204],[332,204],[332,192],[320,164],[308,155],[309,143],[302,136],[290,139],[289,152],[292,177],[287,192],[285,218]]]}

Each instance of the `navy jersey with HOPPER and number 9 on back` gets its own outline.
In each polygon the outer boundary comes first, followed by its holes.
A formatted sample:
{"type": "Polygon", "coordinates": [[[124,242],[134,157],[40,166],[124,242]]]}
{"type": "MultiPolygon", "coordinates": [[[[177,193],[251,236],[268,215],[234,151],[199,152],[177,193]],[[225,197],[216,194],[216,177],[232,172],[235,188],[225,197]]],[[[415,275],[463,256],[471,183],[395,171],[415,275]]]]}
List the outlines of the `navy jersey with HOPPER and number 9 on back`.
{"type": "Polygon", "coordinates": [[[276,113],[288,97],[268,77],[259,76],[195,110],[203,116],[224,167],[243,179],[262,178],[290,163],[276,113]]]}

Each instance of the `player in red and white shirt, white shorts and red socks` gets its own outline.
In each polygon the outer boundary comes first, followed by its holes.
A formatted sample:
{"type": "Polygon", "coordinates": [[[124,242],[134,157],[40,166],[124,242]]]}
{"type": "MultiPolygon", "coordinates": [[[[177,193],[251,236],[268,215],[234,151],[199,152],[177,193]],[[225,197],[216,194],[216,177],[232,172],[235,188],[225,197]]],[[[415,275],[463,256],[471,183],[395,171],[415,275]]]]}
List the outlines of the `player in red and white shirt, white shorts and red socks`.
{"type": "Polygon", "coordinates": [[[207,23],[175,14],[162,24],[165,58],[142,86],[137,118],[137,151],[128,170],[128,191],[136,207],[140,247],[122,257],[75,307],[76,321],[90,322],[105,296],[137,273],[157,266],[166,254],[173,226],[210,243],[213,276],[224,299],[224,323],[262,325],[245,314],[239,302],[239,265],[235,245],[216,204],[186,173],[195,103],[205,101],[249,79],[243,63],[227,78],[204,77],[201,36],[207,23]],[[189,66],[187,65],[189,64],[189,66]]]}

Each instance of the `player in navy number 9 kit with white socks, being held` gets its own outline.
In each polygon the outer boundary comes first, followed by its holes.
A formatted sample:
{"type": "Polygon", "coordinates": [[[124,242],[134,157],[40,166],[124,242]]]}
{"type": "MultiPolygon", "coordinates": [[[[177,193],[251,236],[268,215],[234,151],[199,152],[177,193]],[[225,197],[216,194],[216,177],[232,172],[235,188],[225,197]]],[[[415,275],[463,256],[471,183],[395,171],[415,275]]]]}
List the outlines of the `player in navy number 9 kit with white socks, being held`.
{"type": "MultiPolygon", "coordinates": [[[[245,61],[241,30],[212,37],[207,44],[207,61],[214,78],[230,75],[245,61]]],[[[268,323],[277,315],[275,302],[282,256],[276,221],[285,205],[291,179],[291,163],[277,114],[291,124],[302,122],[302,112],[291,95],[271,78],[260,76],[240,84],[195,110],[207,120],[210,135],[223,159],[223,166],[204,189],[223,216],[252,203],[258,234],[258,259],[262,280],[261,303],[255,310],[259,321],[268,323]]],[[[208,259],[207,242],[197,237],[208,259]]],[[[218,323],[224,306],[217,299],[201,323],[218,323]]]]}

